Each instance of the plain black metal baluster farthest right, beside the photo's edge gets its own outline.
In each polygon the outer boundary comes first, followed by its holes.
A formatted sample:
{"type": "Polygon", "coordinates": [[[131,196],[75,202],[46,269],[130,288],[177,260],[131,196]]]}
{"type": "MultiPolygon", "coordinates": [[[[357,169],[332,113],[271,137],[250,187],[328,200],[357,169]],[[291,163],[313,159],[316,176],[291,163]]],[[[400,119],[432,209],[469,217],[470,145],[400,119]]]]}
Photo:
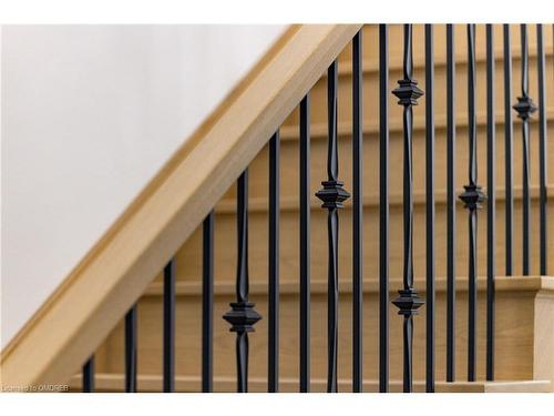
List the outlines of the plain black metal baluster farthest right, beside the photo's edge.
{"type": "Polygon", "coordinates": [[[544,80],[545,68],[544,68],[544,44],[543,44],[543,26],[536,26],[536,54],[537,54],[537,67],[538,67],[538,181],[540,181],[540,224],[541,224],[541,275],[546,275],[546,253],[547,251],[547,222],[546,222],[546,166],[547,166],[547,153],[546,153],[546,83],[544,80]]]}

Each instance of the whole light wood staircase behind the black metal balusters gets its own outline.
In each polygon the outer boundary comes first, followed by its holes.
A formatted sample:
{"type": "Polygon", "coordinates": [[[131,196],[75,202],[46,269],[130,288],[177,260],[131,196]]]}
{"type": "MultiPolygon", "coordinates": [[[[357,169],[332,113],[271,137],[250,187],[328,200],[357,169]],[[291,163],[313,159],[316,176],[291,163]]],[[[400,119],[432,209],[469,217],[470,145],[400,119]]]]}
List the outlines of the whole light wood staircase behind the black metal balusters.
{"type": "MultiPolygon", "coordinates": [[[[401,78],[401,27],[390,28],[390,90],[401,78]]],[[[378,33],[376,26],[366,26],[365,39],[365,104],[363,104],[363,275],[365,275],[365,389],[376,390],[378,377],[378,293],[377,276],[379,267],[379,136],[378,136],[378,33]]],[[[478,378],[476,383],[464,383],[466,367],[466,277],[468,273],[468,214],[463,205],[456,202],[456,382],[444,383],[445,374],[445,274],[447,274],[447,213],[445,213],[445,34],[444,28],[435,29],[435,256],[437,256],[437,379],[439,392],[544,392],[552,388],[547,381],[554,371],[537,369],[536,349],[537,294],[551,285],[553,277],[540,277],[538,274],[538,169],[532,164],[532,241],[531,273],[533,276],[520,276],[521,262],[521,123],[514,118],[514,274],[504,277],[504,115],[503,115],[503,65],[502,32],[495,28],[496,54],[496,362],[495,383],[484,382],[485,348],[485,296],[484,275],[486,273],[486,214],[479,214],[478,233],[478,273],[479,278],[479,338],[478,338],[478,378]],[[546,283],[545,283],[546,282],[546,283]],[[535,369],[534,369],[535,365],[535,369]],[[537,379],[540,376],[540,379],[537,379]]],[[[423,28],[416,26],[413,32],[416,78],[424,89],[423,28]]],[[[486,183],[485,164],[485,69],[484,69],[484,27],[478,27],[478,141],[479,141],[479,183],[486,183]]],[[[546,77],[554,77],[552,37],[545,37],[547,52],[546,77]]],[[[465,28],[456,26],[456,194],[466,182],[468,171],[468,120],[466,120],[466,74],[465,74],[465,28]]],[[[536,101],[536,51],[535,32],[530,30],[530,75],[531,97],[536,101]]],[[[519,95],[520,53],[519,31],[512,28],[513,50],[513,100],[519,95]]],[[[351,190],[351,71],[350,49],[339,58],[339,177],[345,181],[345,189],[351,190]]],[[[554,97],[554,85],[548,82],[548,97],[554,97]]],[[[314,195],[326,179],[327,152],[327,99],[326,78],[319,80],[311,91],[311,184],[314,195]]],[[[424,293],[425,275],[425,197],[424,197],[424,99],[414,108],[413,175],[414,175],[414,273],[416,288],[424,293]]],[[[552,100],[551,100],[552,101],[552,100]]],[[[550,103],[548,116],[554,115],[554,105],[550,103]]],[[[390,95],[390,287],[391,297],[401,287],[402,275],[402,122],[401,108],[390,95]]],[[[296,390],[298,377],[298,111],[295,110],[280,130],[281,133],[281,219],[280,219],[280,372],[281,389],[296,390]]],[[[537,124],[531,124],[531,160],[537,160],[537,124]]],[[[548,138],[554,138],[554,124],[548,125],[548,138]]],[[[552,142],[552,140],[550,139],[552,142]]],[[[266,146],[267,148],[267,146],[266,146]]],[[[554,162],[554,145],[548,146],[548,161],[554,162]]],[[[249,277],[250,297],[256,310],[267,316],[267,149],[260,151],[249,166],[249,277]]],[[[554,203],[554,170],[548,172],[548,204],[554,203]]],[[[327,357],[327,212],[321,210],[319,201],[311,200],[311,376],[314,390],[322,390],[327,357]]],[[[351,201],[340,211],[339,234],[339,378],[341,390],[349,390],[351,371],[351,201]]],[[[216,206],[215,220],[215,313],[214,313],[214,377],[216,390],[235,389],[235,358],[233,334],[228,324],[220,316],[234,300],[236,267],[236,225],[235,189],[232,186],[216,206]]],[[[554,222],[548,223],[548,247],[554,250],[554,222]]],[[[553,258],[554,253],[550,256],[553,258]]],[[[198,390],[201,372],[201,271],[202,233],[197,230],[176,253],[177,307],[176,307],[176,389],[198,390]]],[[[551,264],[552,268],[554,264],[551,264]]],[[[148,287],[138,303],[138,386],[144,390],[160,390],[162,368],[162,286],[161,276],[148,287]]],[[[542,294],[542,296],[545,296],[542,294]]],[[[553,302],[554,303],[554,302],[553,302]]],[[[546,303],[544,308],[552,306],[546,303]]],[[[551,311],[551,310],[548,310],[551,311]]],[[[544,312],[544,311],[543,311],[544,312]]],[[[541,313],[543,313],[541,312],[541,313]]],[[[551,311],[552,312],[552,311],[551,311]]],[[[551,313],[548,312],[548,313],[551,313]]],[[[554,314],[554,312],[552,312],[554,314]]],[[[401,363],[401,317],[390,307],[390,374],[391,390],[399,390],[402,376],[401,363]]],[[[416,317],[414,332],[414,387],[422,390],[424,379],[424,314],[416,317]]],[[[544,312],[546,314],[546,312],[544,312]]],[[[546,315],[545,315],[546,316],[546,315]]],[[[545,335],[546,336],[546,335],[545,335]]],[[[545,345],[554,345],[550,338],[545,345]],[[548,344],[550,343],[550,344],[548,344]]],[[[123,326],[112,332],[96,354],[98,387],[105,390],[121,390],[123,387],[123,326]]],[[[552,354],[551,354],[552,355],[552,354]]],[[[550,358],[552,359],[552,358],[550,358]]],[[[546,362],[541,368],[553,365],[546,362]]],[[[550,368],[550,367],[548,367],[550,368]]],[[[267,373],[267,321],[256,325],[250,335],[250,390],[264,390],[267,373]]],[[[79,387],[79,377],[72,386],[79,387]]]]}

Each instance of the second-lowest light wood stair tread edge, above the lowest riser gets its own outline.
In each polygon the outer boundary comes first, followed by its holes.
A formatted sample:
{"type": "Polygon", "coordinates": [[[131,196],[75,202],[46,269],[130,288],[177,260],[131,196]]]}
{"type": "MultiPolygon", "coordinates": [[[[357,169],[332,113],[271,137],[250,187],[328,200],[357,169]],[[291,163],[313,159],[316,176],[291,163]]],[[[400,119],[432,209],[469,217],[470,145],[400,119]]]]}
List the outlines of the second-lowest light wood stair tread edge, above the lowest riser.
{"type": "MultiPolygon", "coordinates": [[[[543,277],[544,278],[544,277],[543,277]]],[[[416,282],[419,280],[416,278],[416,282]]],[[[424,280],[421,280],[423,283],[424,280]]],[[[541,290],[541,276],[496,276],[495,280],[496,292],[537,292],[541,290]]],[[[396,293],[397,287],[402,285],[401,278],[390,280],[390,292],[396,293]]],[[[420,293],[425,293],[424,285],[420,285],[422,288],[420,293]]],[[[316,278],[310,282],[310,293],[312,295],[327,295],[327,281],[321,278],[316,278]]],[[[437,292],[447,291],[447,278],[438,277],[435,282],[437,292]]],[[[486,290],[486,277],[478,277],[478,290],[486,290]]],[[[235,294],[235,284],[232,280],[224,281],[216,278],[214,284],[214,294],[216,296],[232,296],[235,294]]],[[[468,277],[456,276],[456,291],[459,293],[468,291],[468,277]]],[[[351,280],[345,278],[339,282],[339,292],[341,294],[352,293],[351,280]]],[[[367,278],[363,281],[363,293],[378,293],[379,282],[378,278],[367,278]]],[[[163,284],[162,282],[153,282],[148,285],[148,288],[144,292],[144,296],[158,297],[162,296],[163,284]]],[[[202,294],[202,283],[201,282],[176,282],[175,293],[177,296],[199,296],[202,294]]],[[[267,283],[266,282],[250,282],[249,293],[252,295],[266,294],[267,283]]],[[[279,284],[279,293],[283,296],[297,295],[298,294],[298,281],[293,278],[281,280],[279,284]]]]}

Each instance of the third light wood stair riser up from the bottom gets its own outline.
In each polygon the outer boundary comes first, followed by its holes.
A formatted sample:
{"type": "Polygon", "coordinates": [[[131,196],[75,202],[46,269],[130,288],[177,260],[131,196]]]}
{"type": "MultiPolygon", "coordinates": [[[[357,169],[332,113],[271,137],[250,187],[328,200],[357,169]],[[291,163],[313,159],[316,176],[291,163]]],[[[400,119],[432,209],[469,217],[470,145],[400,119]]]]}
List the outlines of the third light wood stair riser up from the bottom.
{"type": "MultiPolygon", "coordinates": [[[[554,112],[553,112],[554,115],[554,112]]],[[[486,187],[486,128],[484,125],[478,129],[478,170],[479,183],[486,187]]],[[[554,124],[548,129],[548,136],[554,136],[554,124]]],[[[394,132],[390,136],[390,170],[389,184],[390,193],[396,194],[402,190],[403,181],[403,138],[400,132],[394,132]]],[[[531,158],[531,184],[538,184],[538,131],[537,123],[531,128],[530,142],[531,158]]],[[[496,189],[504,189],[505,185],[505,158],[504,158],[504,131],[502,128],[496,130],[496,189]]],[[[310,190],[315,194],[321,187],[321,181],[327,180],[327,140],[317,139],[311,141],[311,161],[310,161],[310,190]]],[[[349,136],[342,135],[339,139],[339,179],[345,182],[347,191],[352,190],[352,145],[349,136]]],[[[468,130],[458,129],[455,148],[455,183],[456,192],[468,183],[468,130]]],[[[554,145],[547,146],[547,160],[554,163],[554,145]]],[[[299,195],[299,149],[296,141],[281,141],[280,146],[280,195],[281,200],[298,200],[299,195]]],[[[267,146],[261,150],[256,159],[250,163],[248,182],[248,192],[250,199],[268,196],[269,181],[269,161],[267,146]]],[[[519,123],[514,125],[513,135],[513,186],[521,189],[523,181],[523,151],[522,135],[519,123]]],[[[366,134],[363,141],[363,194],[375,196],[379,190],[379,140],[375,134],[366,134]]],[[[425,138],[424,131],[418,131],[413,140],[413,189],[414,192],[424,192],[425,189],[425,138]]],[[[435,133],[435,162],[434,179],[435,191],[445,192],[447,190],[447,136],[444,130],[435,133]]],[[[554,184],[554,170],[547,172],[548,183],[554,184]]],[[[517,191],[516,191],[517,192],[517,191]]],[[[458,192],[459,193],[459,192],[458,192]]],[[[230,186],[226,193],[225,204],[233,204],[236,195],[236,186],[230,186]]],[[[346,204],[350,204],[347,200],[346,204]]]]}

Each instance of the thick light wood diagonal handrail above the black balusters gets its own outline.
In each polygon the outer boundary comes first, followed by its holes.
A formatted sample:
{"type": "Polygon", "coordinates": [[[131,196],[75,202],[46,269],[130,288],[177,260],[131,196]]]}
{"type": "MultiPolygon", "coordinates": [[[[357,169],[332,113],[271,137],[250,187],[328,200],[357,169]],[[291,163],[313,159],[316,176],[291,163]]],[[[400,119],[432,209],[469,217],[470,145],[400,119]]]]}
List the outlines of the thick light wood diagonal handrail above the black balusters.
{"type": "Polygon", "coordinates": [[[2,383],[68,381],[360,28],[293,26],[2,351],[2,383]]]}

